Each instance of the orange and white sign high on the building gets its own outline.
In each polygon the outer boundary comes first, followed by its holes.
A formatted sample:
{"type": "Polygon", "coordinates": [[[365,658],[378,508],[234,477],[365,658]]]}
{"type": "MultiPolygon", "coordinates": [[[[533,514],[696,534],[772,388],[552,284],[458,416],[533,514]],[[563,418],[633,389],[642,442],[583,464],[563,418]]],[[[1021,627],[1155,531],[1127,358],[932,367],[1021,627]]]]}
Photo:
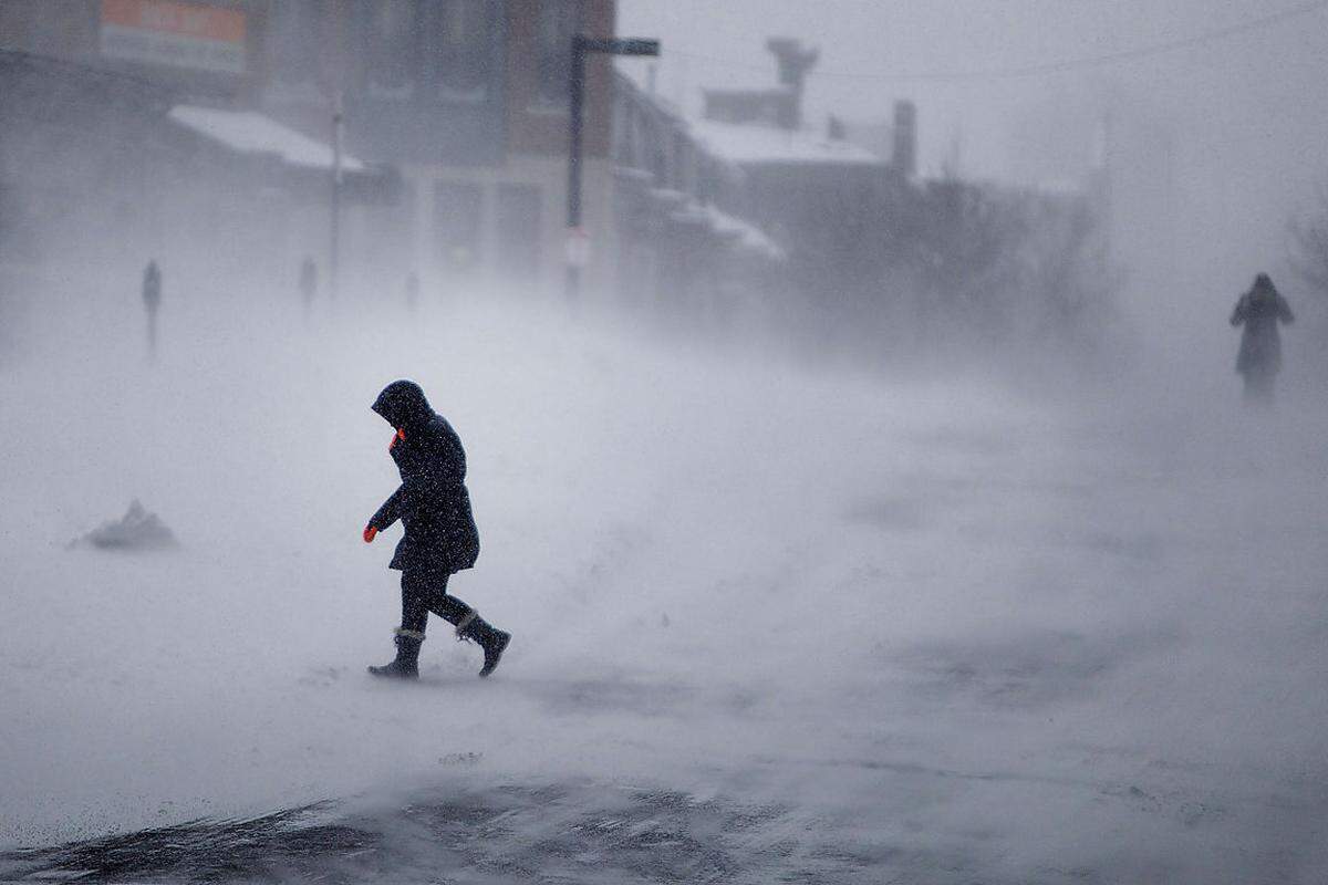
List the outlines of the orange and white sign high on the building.
{"type": "Polygon", "coordinates": [[[101,54],[244,73],[244,13],[174,0],[101,0],[101,54]]]}

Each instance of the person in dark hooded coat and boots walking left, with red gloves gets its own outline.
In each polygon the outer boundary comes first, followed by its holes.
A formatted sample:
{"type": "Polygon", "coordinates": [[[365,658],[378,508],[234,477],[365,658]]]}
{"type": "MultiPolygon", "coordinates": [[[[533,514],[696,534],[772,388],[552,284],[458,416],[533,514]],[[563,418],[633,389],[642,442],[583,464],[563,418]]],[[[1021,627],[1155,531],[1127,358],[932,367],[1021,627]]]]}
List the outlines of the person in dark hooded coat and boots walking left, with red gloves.
{"type": "Polygon", "coordinates": [[[373,403],[396,430],[388,452],[401,471],[401,487],[378,508],[364,529],[365,543],[398,519],[405,536],[388,568],[401,572],[401,626],[396,630],[397,657],[369,667],[378,677],[414,679],[420,675],[420,645],[429,612],[457,628],[458,640],[483,649],[486,677],[498,666],[510,633],[491,626],[456,596],[448,580],[475,564],[479,533],[466,491],[466,452],[457,431],[425,399],[413,381],[393,381],[373,403]]]}

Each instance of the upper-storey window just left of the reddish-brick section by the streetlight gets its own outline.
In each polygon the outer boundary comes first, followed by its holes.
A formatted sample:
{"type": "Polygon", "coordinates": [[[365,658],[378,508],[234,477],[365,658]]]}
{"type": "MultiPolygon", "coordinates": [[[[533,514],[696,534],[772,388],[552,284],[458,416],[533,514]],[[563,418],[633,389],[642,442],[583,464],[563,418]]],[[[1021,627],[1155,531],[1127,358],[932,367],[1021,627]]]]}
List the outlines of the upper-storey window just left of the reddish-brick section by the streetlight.
{"type": "Polygon", "coordinates": [[[493,74],[494,7],[485,0],[425,4],[420,82],[442,101],[483,101],[493,74]]]}

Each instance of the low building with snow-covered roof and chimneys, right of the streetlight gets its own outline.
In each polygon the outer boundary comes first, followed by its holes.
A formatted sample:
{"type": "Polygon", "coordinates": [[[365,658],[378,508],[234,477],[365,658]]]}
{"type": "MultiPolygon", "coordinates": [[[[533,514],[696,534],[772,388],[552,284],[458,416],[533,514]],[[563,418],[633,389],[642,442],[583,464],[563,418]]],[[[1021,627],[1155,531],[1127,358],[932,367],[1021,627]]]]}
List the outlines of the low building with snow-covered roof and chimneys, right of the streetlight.
{"type": "Polygon", "coordinates": [[[882,227],[911,211],[914,107],[900,102],[892,155],[801,126],[817,52],[774,38],[777,85],[703,90],[688,118],[620,73],[614,113],[619,277],[701,325],[807,324],[879,288],[882,227]]]}

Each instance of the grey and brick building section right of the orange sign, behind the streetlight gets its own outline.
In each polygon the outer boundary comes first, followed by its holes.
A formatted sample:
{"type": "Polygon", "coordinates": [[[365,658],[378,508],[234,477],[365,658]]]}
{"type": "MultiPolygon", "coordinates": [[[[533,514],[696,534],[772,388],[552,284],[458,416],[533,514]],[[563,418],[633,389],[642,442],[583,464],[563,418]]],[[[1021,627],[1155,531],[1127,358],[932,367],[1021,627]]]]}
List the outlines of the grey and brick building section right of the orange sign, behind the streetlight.
{"type": "MultiPolygon", "coordinates": [[[[347,149],[400,170],[400,203],[351,219],[363,267],[409,267],[444,288],[551,288],[564,260],[571,38],[614,27],[611,0],[283,0],[262,105],[329,138],[340,102],[347,149]]],[[[606,57],[591,58],[586,94],[586,227],[607,253],[606,57]]],[[[591,273],[603,281],[606,267],[591,273]]]]}

